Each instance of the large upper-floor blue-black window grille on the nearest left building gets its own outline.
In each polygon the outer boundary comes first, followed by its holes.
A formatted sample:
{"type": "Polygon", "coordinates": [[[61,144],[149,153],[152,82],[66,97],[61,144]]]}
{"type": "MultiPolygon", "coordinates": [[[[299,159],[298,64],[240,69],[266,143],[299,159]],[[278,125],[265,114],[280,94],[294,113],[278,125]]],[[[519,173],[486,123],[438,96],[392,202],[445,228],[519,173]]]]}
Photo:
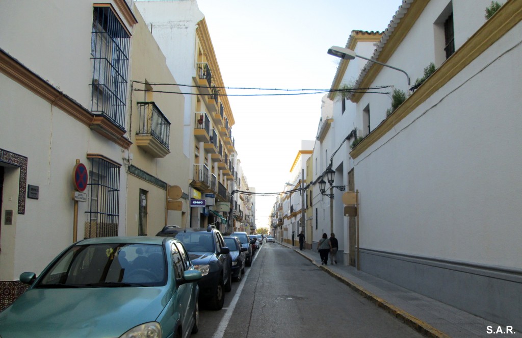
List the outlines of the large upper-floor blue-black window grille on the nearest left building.
{"type": "Polygon", "coordinates": [[[91,111],[124,128],[130,37],[110,7],[94,7],[91,111]]]}

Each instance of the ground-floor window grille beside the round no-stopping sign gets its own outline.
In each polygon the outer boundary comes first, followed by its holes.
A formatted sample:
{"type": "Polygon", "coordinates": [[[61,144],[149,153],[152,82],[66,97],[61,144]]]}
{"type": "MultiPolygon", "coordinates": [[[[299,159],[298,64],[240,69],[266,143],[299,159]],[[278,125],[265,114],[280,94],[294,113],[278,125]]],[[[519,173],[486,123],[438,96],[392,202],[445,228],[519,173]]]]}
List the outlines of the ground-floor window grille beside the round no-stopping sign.
{"type": "Polygon", "coordinates": [[[85,238],[118,236],[120,166],[99,157],[91,157],[89,161],[90,200],[85,238]]]}

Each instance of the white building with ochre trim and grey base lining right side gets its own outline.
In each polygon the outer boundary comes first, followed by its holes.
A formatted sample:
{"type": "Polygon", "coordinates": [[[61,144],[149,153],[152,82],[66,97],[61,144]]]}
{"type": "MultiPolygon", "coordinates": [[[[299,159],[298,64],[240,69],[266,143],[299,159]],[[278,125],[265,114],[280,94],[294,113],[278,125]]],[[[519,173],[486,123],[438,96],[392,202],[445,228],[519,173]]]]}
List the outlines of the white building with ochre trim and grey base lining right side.
{"type": "Polygon", "coordinates": [[[522,3],[500,3],[486,19],[489,0],[403,2],[361,52],[401,72],[368,62],[352,85],[402,103],[348,95],[358,129],[343,179],[359,191],[361,270],[509,324],[522,315],[522,3]]]}

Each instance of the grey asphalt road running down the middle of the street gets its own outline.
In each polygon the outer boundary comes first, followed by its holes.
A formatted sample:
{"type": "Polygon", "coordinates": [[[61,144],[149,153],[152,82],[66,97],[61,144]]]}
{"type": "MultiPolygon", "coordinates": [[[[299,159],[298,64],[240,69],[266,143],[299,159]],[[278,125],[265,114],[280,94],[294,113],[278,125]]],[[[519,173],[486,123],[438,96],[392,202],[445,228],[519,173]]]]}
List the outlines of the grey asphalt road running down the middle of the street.
{"type": "Polygon", "coordinates": [[[194,337],[422,337],[310,261],[265,243],[194,337]]]}

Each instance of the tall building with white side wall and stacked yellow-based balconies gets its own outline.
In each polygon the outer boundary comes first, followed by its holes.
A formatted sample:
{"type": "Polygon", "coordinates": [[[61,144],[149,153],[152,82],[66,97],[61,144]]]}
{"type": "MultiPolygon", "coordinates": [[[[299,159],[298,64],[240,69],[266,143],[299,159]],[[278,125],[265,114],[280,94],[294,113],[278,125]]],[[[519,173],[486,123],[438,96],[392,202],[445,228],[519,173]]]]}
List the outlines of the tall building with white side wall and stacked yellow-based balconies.
{"type": "Polygon", "coordinates": [[[183,151],[191,168],[187,194],[206,203],[189,208],[187,224],[216,224],[227,231],[234,227],[228,222],[235,222],[232,192],[238,190],[235,121],[204,14],[195,0],[138,1],[136,6],[185,97],[183,120],[177,123],[183,123],[183,151]]]}

